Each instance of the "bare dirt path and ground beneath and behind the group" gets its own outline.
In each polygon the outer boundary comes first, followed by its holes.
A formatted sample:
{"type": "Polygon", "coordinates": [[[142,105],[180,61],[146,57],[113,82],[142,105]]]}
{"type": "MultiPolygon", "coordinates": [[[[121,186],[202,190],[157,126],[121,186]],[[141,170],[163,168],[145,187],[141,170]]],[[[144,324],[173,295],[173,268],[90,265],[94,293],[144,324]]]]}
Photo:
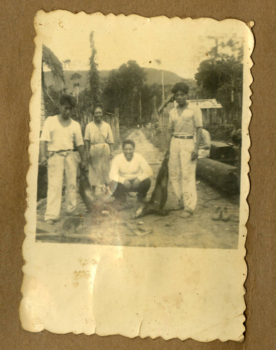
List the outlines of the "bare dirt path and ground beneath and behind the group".
{"type": "MultiPolygon", "coordinates": [[[[136,144],[136,151],[146,158],[153,169],[151,189],[147,198],[150,199],[151,191],[155,186],[155,179],[163,153],[146,139],[142,130],[135,130],[130,134],[136,144]]],[[[116,150],[121,153],[121,148],[116,150]]],[[[155,214],[133,219],[132,215],[137,209],[137,201],[134,196],[127,196],[125,209],[122,211],[112,210],[113,197],[109,200],[110,210],[106,216],[92,218],[83,214],[83,225],[78,228],[80,235],[85,237],[74,239],[67,237],[62,239],[66,242],[122,245],[122,246],[170,246],[190,248],[237,248],[239,204],[235,198],[223,197],[219,192],[210,188],[206,183],[198,181],[198,205],[191,218],[182,218],[182,211],[170,211],[167,216],[155,214]],[[227,207],[230,212],[230,221],[213,221],[212,215],[216,207],[227,207]]],[[[166,209],[176,208],[177,200],[169,183],[166,209]]],[[[81,200],[78,200],[78,209],[84,212],[81,200]]],[[[37,220],[43,221],[45,206],[39,210],[37,220]]],[[[62,216],[64,211],[62,209],[62,216]]],[[[61,230],[62,221],[55,224],[56,232],[61,230]]],[[[77,237],[77,235],[76,235],[77,237]]],[[[56,241],[55,238],[44,238],[43,241],[56,241]]]]}

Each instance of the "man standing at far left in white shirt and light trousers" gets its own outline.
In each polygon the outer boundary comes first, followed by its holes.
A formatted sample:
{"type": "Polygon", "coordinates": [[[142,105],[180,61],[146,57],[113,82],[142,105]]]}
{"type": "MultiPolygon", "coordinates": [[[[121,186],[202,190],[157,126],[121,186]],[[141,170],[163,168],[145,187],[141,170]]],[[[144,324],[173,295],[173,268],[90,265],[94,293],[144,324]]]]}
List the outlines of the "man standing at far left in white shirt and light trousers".
{"type": "Polygon", "coordinates": [[[67,214],[76,215],[77,161],[73,151],[74,143],[81,156],[81,167],[85,167],[85,152],[81,125],[71,119],[71,111],[74,107],[74,97],[62,94],[60,114],[48,117],[41,133],[41,165],[48,165],[47,208],[44,220],[50,224],[55,223],[60,216],[64,173],[67,214]]]}

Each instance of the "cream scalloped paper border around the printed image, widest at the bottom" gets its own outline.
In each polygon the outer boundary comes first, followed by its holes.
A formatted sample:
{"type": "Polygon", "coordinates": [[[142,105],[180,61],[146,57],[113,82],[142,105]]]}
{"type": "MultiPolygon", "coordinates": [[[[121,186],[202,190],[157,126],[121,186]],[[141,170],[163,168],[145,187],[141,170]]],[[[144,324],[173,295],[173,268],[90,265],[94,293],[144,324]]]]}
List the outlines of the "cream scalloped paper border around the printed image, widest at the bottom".
{"type": "MultiPolygon", "coordinates": [[[[62,17],[62,13],[60,15],[62,17]]],[[[65,15],[72,16],[69,13],[65,15]]],[[[74,16],[81,20],[83,15],[85,13],[74,16]]],[[[132,17],[136,18],[136,15],[132,17]]],[[[114,15],[107,18],[113,19],[114,15]]],[[[163,20],[193,21],[180,18],[151,20],[160,20],[160,24],[163,20]]],[[[207,18],[196,21],[219,25],[219,22],[207,18]]],[[[47,329],[57,333],[84,332],[88,335],[119,334],[163,339],[178,337],[200,342],[243,339],[243,283],[247,275],[244,243],[249,214],[246,199],[249,193],[250,55],[254,38],[244,23],[226,20],[228,23],[230,21],[235,22],[237,27],[241,26],[240,30],[247,36],[244,43],[242,186],[237,250],[83,245],[76,248],[74,244],[36,244],[34,209],[40,120],[35,116],[41,110],[41,75],[33,74],[29,146],[31,167],[27,174],[28,209],[23,244],[26,264],[23,267],[25,276],[20,304],[20,318],[25,330],[40,332],[47,329]],[[109,314],[106,314],[106,308],[109,314]],[[170,314],[169,326],[167,312],[170,314]]],[[[36,69],[40,72],[41,49],[37,40],[36,45],[34,66],[35,72],[36,69]]]]}

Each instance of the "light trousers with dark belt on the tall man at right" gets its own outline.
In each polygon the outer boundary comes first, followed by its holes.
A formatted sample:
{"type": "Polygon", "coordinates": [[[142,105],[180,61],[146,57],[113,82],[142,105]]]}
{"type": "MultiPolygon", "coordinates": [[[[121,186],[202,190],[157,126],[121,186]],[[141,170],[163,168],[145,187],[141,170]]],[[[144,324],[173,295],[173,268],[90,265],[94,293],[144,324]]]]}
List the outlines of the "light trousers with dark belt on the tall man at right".
{"type": "Polygon", "coordinates": [[[196,160],[191,160],[195,147],[193,139],[172,137],[170,144],[169,176],[172,187],[184,209],[193,212],[198,200],[195,187],[196,160]]]}

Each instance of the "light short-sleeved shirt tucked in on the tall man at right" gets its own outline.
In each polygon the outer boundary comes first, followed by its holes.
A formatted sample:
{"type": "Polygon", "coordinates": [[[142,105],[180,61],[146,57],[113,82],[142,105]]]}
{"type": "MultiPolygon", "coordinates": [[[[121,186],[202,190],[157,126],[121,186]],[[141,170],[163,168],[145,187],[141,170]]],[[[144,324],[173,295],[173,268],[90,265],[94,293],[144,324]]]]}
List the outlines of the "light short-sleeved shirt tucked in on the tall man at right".
{"type": "Polygon", "coordinates": [[[170,111],[168,129],[172,129],[174,136],[193,136],[197,127],[202,127],[202,112],[198,106],[186,106],[181,116],[177,108],[170,111]]]}

